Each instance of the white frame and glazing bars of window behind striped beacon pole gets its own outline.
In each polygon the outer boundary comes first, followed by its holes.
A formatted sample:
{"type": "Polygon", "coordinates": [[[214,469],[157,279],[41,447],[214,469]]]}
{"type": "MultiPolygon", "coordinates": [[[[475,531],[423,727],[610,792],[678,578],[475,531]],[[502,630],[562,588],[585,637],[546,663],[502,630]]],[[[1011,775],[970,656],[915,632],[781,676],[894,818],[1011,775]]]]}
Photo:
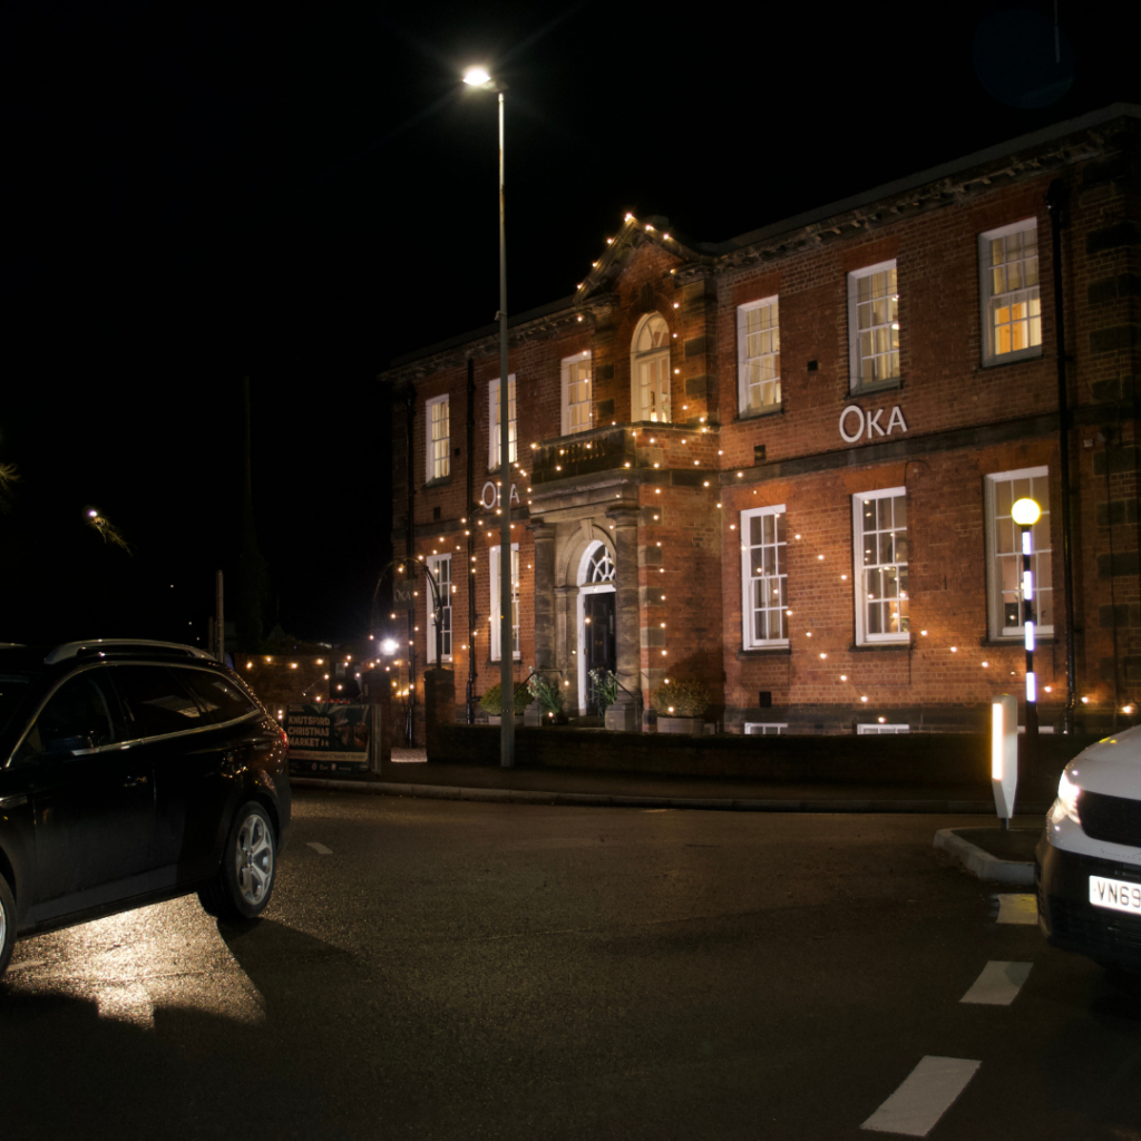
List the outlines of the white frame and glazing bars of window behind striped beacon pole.
{"type": "MultiPolygon", "coordinates": [[[[1003,483],[1013,483],[1018,479],[1030,480],[1030,494],[1037,501],[1039,508],[1042,508],[1042,518],[1034,525],[1034,555],[1031,556],[1034,560],[1034,588],[1035,594],[1038,596],[1035,599],[1036,615],[1042,614],[1042,594],[1050,594],[1050,613],[1053,614],[1054,608],[1054,590],[1053,590],[1053,550],[1050,545],[1050,469],[1045,467],[1038,468],[1019,468],[1015,471],[994,471],[986,477],[986,502],[984,505],[984,516],[986,518],[987,528],[987,633],[992,641],[1010,641],[1010,642],[1021,642],[1026,637],[1026,626],[1022,623],[1022,540],[1020,534],[1020,528],[1013,519],[1010,519],[1009,515],[998,513],[998,486],[1003,483]],[[1039,487],[1041,480],[1041,487],[1039,487]],[[1012,540],[1013,550],[1011,551],[1000,551],[998,531],[1004,526],[1005,520],[1010,519],[1010,527],[1012,528],[1012,540]],[[1043,542],[1043,540],[1045,540],[1043,542]],[[1041,544],[1041,545],[1039,545],[1041,544]],[[1009,561],[1013,568],[1013,578],[1017,582],[1018,594],[1018,625],[1009,626],[1005,622],[1005,600],[1003,598],[1003,573],[1001,563],[1003,560],[1009,561]],[[1046,588],[1039,586],[1039,581],[1042,574],[1039,572],[1039,566],[1045,564],[1051,570],[1050,574],[1050,585],[1046,588]]],[[[1012,497],[1014,492],[1011,492],[1012,497]]],[[[1053,622],[1041,622],[1035,626],[1035,634],[1038,638],[1050,638],[1053,637],[1054,624],[1053,622]]]]}

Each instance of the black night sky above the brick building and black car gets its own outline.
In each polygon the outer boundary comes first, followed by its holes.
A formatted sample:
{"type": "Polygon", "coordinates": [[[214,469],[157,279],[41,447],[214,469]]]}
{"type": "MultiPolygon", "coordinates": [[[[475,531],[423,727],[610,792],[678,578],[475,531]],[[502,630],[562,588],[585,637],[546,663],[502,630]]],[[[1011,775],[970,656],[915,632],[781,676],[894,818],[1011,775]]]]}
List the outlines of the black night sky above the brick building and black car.
{"type": "Polygon", "coordinates": [[[0,640],[204,641],[213,572],[236,581],[246,375],[267,628],[365,631],[374,377],[499,306],[470,63],[510,86],[511,313],[573,292],[628,210],[719,241],[1141,103],[1132,5],[1061,0],[1060,66],[1051,2],[677,11],[6,6],[0,640]]]}

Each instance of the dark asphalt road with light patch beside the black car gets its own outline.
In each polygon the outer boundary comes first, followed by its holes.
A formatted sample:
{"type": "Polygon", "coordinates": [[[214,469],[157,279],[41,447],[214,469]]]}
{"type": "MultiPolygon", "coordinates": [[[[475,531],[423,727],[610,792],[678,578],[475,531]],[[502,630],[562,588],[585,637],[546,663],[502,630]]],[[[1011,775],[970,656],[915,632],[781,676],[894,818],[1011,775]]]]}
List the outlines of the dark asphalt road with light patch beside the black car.
{"type": "Polygon", "coordinates": [[[252,930],[189,897],[17,947],[0,1120],[22,1141],[1141,1139],[1141,997],[998,922],[932,848],[978,823],[302,792],[252,930]]]}

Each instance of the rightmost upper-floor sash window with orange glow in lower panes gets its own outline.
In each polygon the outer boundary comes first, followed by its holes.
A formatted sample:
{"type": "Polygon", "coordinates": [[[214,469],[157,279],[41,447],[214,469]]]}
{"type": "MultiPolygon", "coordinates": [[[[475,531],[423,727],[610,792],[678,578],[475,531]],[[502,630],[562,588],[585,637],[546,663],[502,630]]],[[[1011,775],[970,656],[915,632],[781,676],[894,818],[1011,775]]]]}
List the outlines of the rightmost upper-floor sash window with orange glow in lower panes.
{"type": "Polygon", "coordinates": [[[1034,218],[979,235],[982,363],[1042,355],[1038,224],[1034,218]]]}

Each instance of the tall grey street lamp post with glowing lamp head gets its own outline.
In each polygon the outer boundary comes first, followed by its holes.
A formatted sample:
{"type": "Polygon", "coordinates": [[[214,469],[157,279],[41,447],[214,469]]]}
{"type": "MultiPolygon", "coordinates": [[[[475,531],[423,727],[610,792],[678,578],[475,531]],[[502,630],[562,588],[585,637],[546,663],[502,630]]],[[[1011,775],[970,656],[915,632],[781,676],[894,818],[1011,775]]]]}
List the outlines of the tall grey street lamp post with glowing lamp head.
{"type": "Polygon", "coordinates": [[[499,92],[500,128],[500,764],[515,767],[515,644],[511,637],[511,381],[507,363],[507,225],[503,199],[503,92],[483,67],[471,67],[463,82],[482,91],[499,92]]]}

